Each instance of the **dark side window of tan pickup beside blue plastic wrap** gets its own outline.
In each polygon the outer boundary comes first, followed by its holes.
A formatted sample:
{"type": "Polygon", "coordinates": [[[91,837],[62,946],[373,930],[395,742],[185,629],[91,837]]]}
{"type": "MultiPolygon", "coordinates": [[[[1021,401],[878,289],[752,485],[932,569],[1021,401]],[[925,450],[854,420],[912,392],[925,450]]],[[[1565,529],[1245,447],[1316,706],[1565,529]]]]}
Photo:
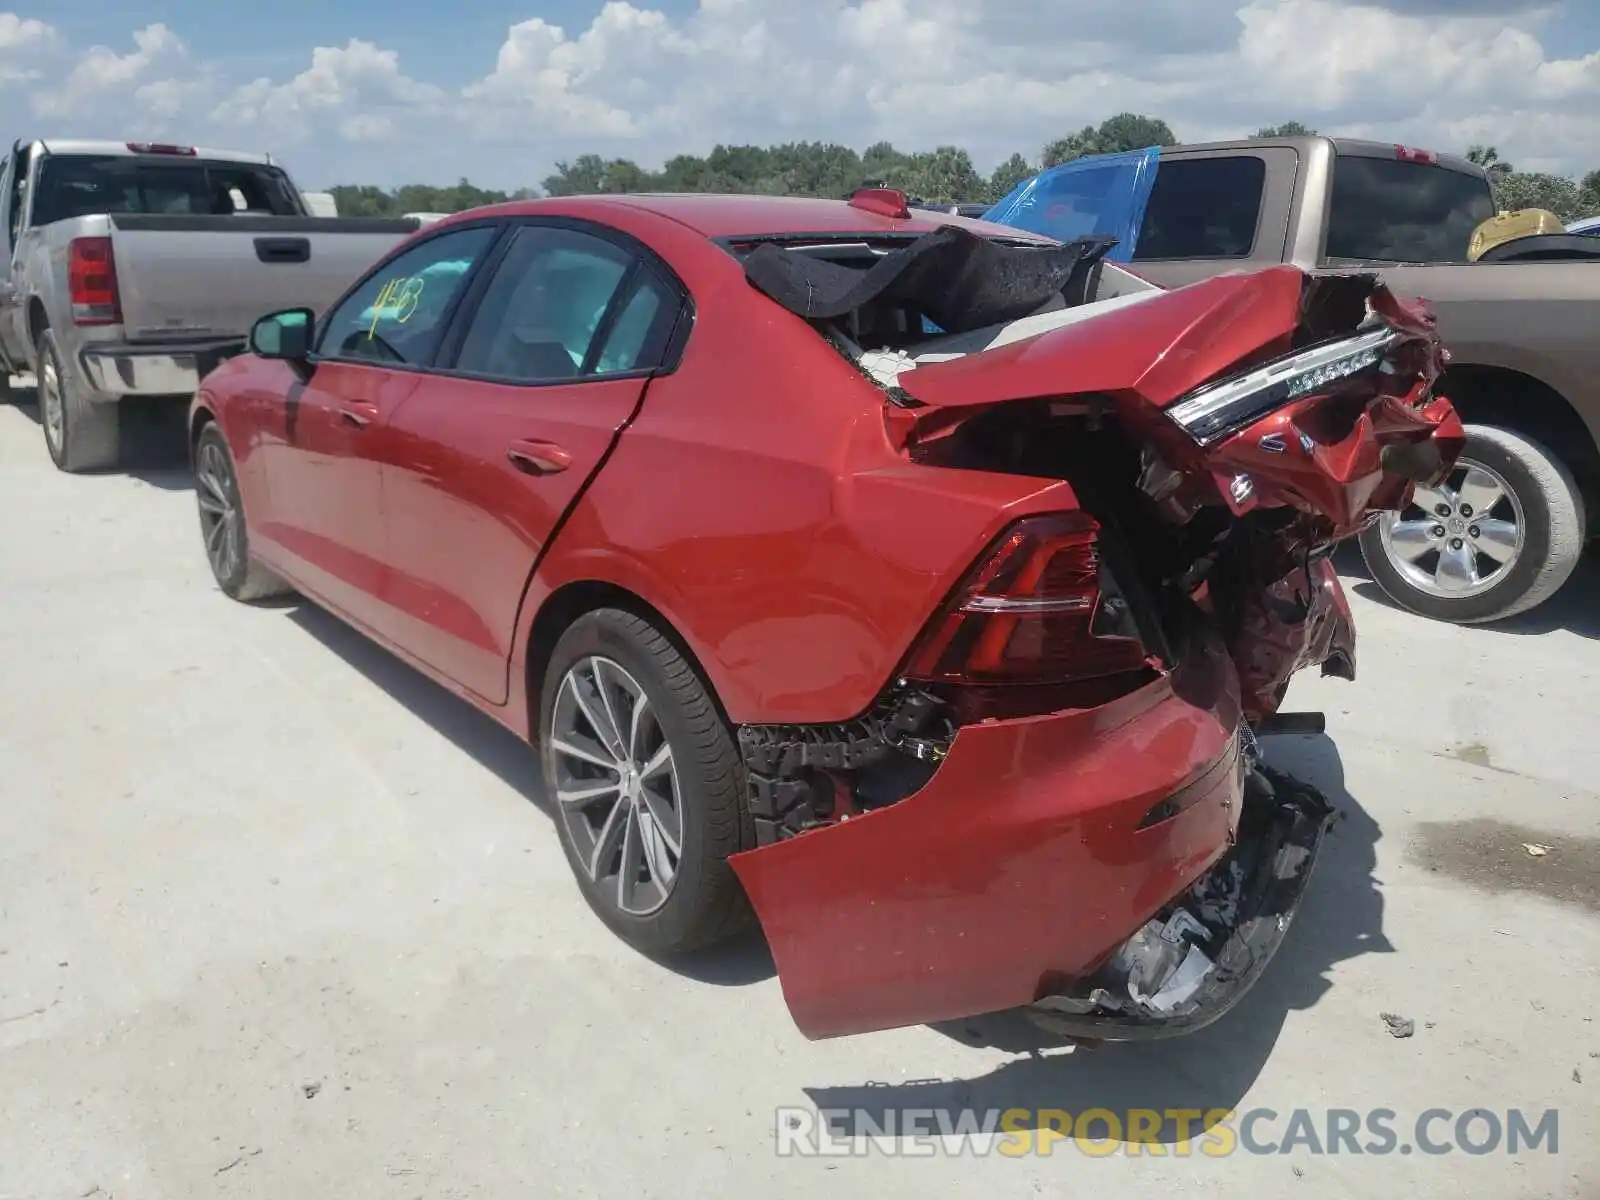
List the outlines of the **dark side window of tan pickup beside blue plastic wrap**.
{"type": "Polygon", "coordinates": [[[1256,155],[1163,162],[1133,261],[1248,258],[1266,182],[1267,163],[1256,155]]]}

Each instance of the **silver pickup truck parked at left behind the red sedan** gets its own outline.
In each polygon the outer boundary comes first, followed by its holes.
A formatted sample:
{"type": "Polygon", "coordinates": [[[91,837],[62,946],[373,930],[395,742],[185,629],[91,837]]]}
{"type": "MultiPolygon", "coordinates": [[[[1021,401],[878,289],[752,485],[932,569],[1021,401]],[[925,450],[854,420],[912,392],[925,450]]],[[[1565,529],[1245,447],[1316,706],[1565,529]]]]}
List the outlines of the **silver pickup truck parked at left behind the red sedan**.
{"type": "Polygon", "coordinates": [[[128,410],[187,403],[259,315],[322,310],[418,226],[310,216],[270,155],[18,142],[0,173],[0,374],[35,374],[58,467],[112,467],[128,410]]]}

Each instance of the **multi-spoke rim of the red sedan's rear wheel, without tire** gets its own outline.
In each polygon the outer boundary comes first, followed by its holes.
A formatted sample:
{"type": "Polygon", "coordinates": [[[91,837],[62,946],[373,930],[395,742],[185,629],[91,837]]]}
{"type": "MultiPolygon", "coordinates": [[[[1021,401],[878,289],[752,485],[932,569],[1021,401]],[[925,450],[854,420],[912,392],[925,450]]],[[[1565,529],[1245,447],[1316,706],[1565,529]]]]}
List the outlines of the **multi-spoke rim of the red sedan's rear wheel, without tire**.
{"type": "Polygon", "coordinates": [[[672,746],[643,686],[618,662],[581,659],[550,714],[555,803],[589,878],[646,917],[672,894],[683,808],[672,746]]]}

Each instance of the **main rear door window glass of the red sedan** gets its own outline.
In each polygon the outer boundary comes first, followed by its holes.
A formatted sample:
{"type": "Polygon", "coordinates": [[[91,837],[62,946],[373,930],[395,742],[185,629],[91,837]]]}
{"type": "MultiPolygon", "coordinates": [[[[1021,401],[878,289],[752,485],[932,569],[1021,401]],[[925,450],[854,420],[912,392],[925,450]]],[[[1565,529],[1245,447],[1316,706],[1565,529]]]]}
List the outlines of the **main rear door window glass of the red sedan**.
{"type": "Polygon", "coordinates": [[[483,293],[456,368],[523,382],[578,378],[632,262],[590,234],[525,226],[483,293]]]}

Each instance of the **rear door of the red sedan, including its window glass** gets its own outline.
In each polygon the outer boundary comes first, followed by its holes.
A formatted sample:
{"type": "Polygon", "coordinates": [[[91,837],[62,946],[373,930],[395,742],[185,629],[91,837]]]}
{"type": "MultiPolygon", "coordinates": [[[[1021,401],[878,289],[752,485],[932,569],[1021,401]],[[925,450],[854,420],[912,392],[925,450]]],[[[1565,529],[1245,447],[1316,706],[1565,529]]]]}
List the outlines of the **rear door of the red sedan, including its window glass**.
{"type": "Polygon", "coordinates": [[[390,422],[386,600],[406,650],[504,702],[533,566],[666,362],[683,291],[614,230],[526,222],[475,293],[390,422]]]}

